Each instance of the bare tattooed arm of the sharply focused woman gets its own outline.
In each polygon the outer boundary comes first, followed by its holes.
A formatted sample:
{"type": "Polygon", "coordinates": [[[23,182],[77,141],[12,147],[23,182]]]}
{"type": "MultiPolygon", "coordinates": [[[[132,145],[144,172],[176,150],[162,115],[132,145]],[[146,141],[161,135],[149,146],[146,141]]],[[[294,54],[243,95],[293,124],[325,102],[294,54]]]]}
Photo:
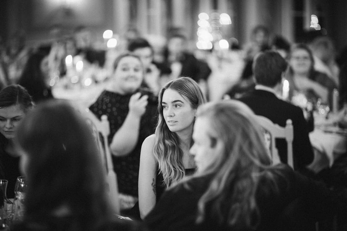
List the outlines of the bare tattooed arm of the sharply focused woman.
{"type": "Polygon", "coordinates": [[[138,173],[138,206],[141,219],[154,207],[156,201],[157,162],[153,156],[155,135],[148,136],[142,144],[138,173]]]}

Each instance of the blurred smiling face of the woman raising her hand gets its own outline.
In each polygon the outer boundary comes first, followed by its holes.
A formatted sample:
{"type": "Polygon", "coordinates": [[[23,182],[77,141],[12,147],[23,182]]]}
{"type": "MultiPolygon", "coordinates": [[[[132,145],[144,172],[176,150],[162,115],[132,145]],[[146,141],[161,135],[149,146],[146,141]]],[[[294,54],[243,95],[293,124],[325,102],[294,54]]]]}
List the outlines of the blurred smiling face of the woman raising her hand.
{"type": "Polygon", "coordinates": [[[140,86],[143,80],[143,66],[139,59],[133,56],[123,57],[114,73],[114,88],[120,94],[132,94],[140,86]]]}

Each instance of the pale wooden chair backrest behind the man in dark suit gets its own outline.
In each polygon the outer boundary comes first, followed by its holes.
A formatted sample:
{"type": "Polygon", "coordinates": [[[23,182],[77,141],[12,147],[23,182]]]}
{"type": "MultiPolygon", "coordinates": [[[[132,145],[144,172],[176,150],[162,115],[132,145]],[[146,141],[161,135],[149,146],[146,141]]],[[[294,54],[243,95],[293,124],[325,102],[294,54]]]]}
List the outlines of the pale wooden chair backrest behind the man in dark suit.
{"type": "Polygon", "coordinates": [[[290,167],[294,169],[293,163],[293,138],[294,138],[294,130],[291,119],[287,119],[286,126],[281,127],[278,124],[274,124],[270,119],[256,115],[255,116],[257,122],[264,128],[265,137],[266,134],[270,135],[270,152],[273,164],[277,164],[280,162],[280,158],[278,155],[278,150],[276,148],[275,139],[282,138],[287,141],[287,163],[290,167]]]}

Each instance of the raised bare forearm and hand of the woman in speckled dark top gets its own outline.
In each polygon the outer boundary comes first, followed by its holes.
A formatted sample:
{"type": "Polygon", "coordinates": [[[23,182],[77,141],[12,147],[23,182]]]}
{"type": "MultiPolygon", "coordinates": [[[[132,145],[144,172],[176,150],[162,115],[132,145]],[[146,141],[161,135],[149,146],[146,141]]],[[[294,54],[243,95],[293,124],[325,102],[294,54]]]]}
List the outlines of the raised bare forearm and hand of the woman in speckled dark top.
{"type": "Polygon", "coordinates": [[[113,136],[110,149],[115,156],[125,156],[135,148],[140,130],[141,116],[146,111],[148,104],[147,95],[140,98],[141,93],[136,93],[130,97],[129,113],[122,126],[113,136]]]}

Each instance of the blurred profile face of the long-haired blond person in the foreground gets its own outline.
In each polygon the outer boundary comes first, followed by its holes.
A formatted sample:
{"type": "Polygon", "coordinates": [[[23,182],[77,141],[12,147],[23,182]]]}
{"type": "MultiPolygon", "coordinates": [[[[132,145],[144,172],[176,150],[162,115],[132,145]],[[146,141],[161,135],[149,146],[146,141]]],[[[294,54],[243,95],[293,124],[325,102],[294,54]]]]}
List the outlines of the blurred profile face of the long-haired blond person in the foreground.
{"type": "Polygon", "coordinates": [[[206,169],[222,151],[221,142],[215,139],[213,143],[211,135],[209,135],[209,130],[208,118],[198,117],[195,121],[193,130],[194,144],[190,150],[190,153],[194,155],[198,172],[206,169]]]}

